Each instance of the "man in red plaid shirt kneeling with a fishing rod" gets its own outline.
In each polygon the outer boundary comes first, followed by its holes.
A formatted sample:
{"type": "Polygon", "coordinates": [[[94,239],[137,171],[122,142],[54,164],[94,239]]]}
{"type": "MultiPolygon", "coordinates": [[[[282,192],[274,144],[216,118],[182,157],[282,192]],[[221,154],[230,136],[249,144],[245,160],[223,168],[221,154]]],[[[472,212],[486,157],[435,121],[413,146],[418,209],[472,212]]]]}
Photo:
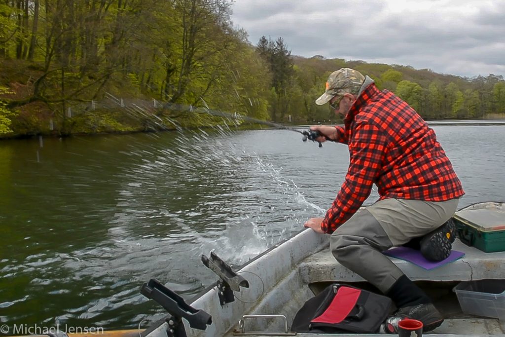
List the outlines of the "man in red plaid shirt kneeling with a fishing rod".
{"type": "Polygon", "coordinates": [[[406,102],[379,91],[370,77],[349,68],[331,73],[316,101],[326,103],[344,116],[344,126],[311,129],[321,134],[318,141],[346,144],[350,164],[326,216],[304,226],[331,234],[335,259],[395,302],[398,311],[384,324],[386,332],[397,332],[404,317],[422,321],[423,330],[430,331],[442,324],[442,315],[382,252],[406,245],[428,260],[446,259],[455,239],[449,219],[464,195],[461,182],[435,132],[406,102]],[[359,210],[373,184],[380,199],[359,210]]]}

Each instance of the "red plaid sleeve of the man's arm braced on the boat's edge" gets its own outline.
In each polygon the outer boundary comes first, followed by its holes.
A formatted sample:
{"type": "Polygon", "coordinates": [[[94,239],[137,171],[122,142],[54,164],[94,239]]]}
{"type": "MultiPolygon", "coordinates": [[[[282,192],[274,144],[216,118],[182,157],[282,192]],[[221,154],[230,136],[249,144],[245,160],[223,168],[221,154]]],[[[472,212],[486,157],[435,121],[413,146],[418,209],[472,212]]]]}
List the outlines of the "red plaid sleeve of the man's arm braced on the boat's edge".
{"type": "Polygon", "coordinates": [[[370,196],[379,176],[387,138],[370,124],[358,122],[349,141],[350,164],[345,181],[326,217],[321,222],[325,233],[332,233],[347,221],[370,196]]]}

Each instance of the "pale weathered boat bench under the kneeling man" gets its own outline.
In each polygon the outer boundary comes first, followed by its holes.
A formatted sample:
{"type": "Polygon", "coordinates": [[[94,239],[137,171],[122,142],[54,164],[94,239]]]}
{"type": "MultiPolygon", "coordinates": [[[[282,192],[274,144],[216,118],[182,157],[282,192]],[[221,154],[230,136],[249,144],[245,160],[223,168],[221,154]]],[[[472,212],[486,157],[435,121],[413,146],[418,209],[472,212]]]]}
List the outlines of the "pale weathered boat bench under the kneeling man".
{"type": "MultiPolygon", "coordinates": [[[[505,252],[484,253],[469,247],[459,240],[452,245],[453,250],[465,253],[461,259],[432,270],[426,270],[411,262],[390,258],[412,280],[427,281],[470,281],[485,278],[503,278],[505,252]]],[[[331,255],[329,247],[315,253],[299,265],[301,280],[305,284],[319,281],[355,282],[364,279],[339,264],[331,255]]]]}

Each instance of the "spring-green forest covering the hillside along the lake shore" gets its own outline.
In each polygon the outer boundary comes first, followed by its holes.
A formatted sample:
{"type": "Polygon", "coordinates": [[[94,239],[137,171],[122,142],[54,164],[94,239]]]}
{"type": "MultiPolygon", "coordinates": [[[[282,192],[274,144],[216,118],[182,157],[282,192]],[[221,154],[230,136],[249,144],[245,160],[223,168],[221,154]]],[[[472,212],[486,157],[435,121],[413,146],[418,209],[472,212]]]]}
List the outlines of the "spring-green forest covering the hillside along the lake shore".
{"type": "Polygon", "coordinates": [[[0,134],[219,122],[188,113],[198,108],[280,123],[338,123],[314,100],[341,67],[371,76],[428,120],[505,113],[500,75],[465,78],[292,56],[282,37],[251,44],[231,8],[231,0],[0,0],[0,134]]]}

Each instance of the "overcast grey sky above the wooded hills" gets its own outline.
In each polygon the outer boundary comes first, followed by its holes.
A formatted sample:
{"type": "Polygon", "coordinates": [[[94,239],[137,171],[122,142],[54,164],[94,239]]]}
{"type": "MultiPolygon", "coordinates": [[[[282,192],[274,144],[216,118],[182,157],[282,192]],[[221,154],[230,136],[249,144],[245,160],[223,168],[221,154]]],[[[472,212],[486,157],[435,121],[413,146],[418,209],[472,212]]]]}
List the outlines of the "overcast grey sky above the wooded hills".
{"type": "Polygon", "coordinates": [[[505,0],[235,0],[232,20],[292,55],[505,76],[505,0]]]}

